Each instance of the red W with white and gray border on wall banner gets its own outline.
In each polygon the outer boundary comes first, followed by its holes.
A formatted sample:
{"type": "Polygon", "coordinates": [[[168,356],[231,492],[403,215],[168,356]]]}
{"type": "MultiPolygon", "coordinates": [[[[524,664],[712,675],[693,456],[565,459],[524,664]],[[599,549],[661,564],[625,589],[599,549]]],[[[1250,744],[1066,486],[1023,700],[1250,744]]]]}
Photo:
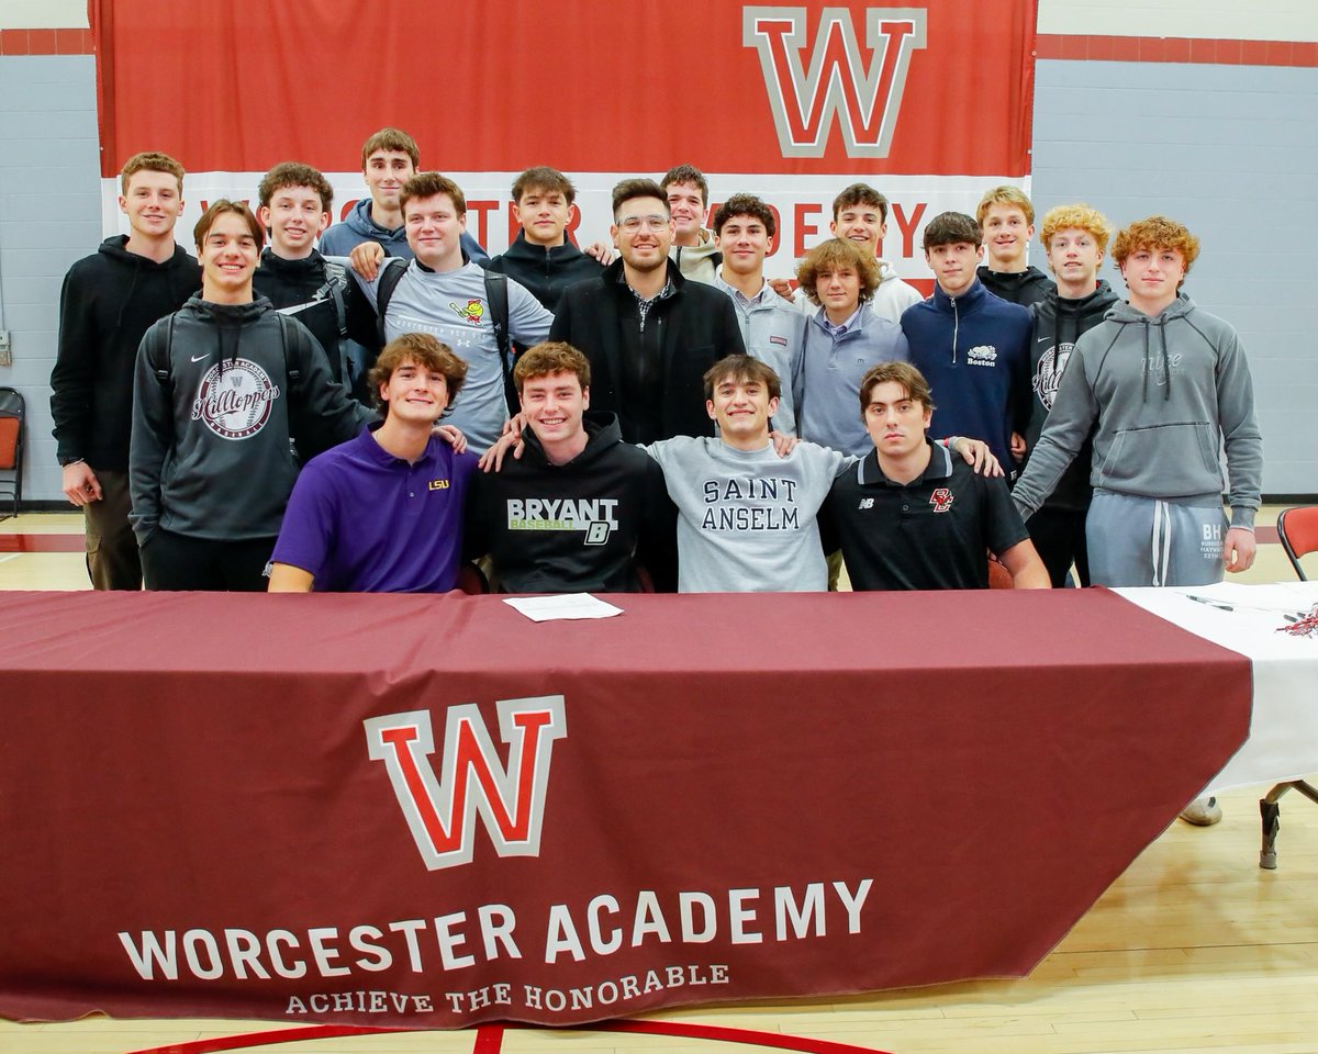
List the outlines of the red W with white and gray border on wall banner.
{"type": "Polygon", "coordinates": [[[911,53],[925,46],[923,8],[867,8],[866,67],[847,8],[824,8],[809,66],[805,8],[743,8],[742,43],[759,51],[783,157],[824,157],[834,120],[847,157],[887,157],[911,53]]]}

